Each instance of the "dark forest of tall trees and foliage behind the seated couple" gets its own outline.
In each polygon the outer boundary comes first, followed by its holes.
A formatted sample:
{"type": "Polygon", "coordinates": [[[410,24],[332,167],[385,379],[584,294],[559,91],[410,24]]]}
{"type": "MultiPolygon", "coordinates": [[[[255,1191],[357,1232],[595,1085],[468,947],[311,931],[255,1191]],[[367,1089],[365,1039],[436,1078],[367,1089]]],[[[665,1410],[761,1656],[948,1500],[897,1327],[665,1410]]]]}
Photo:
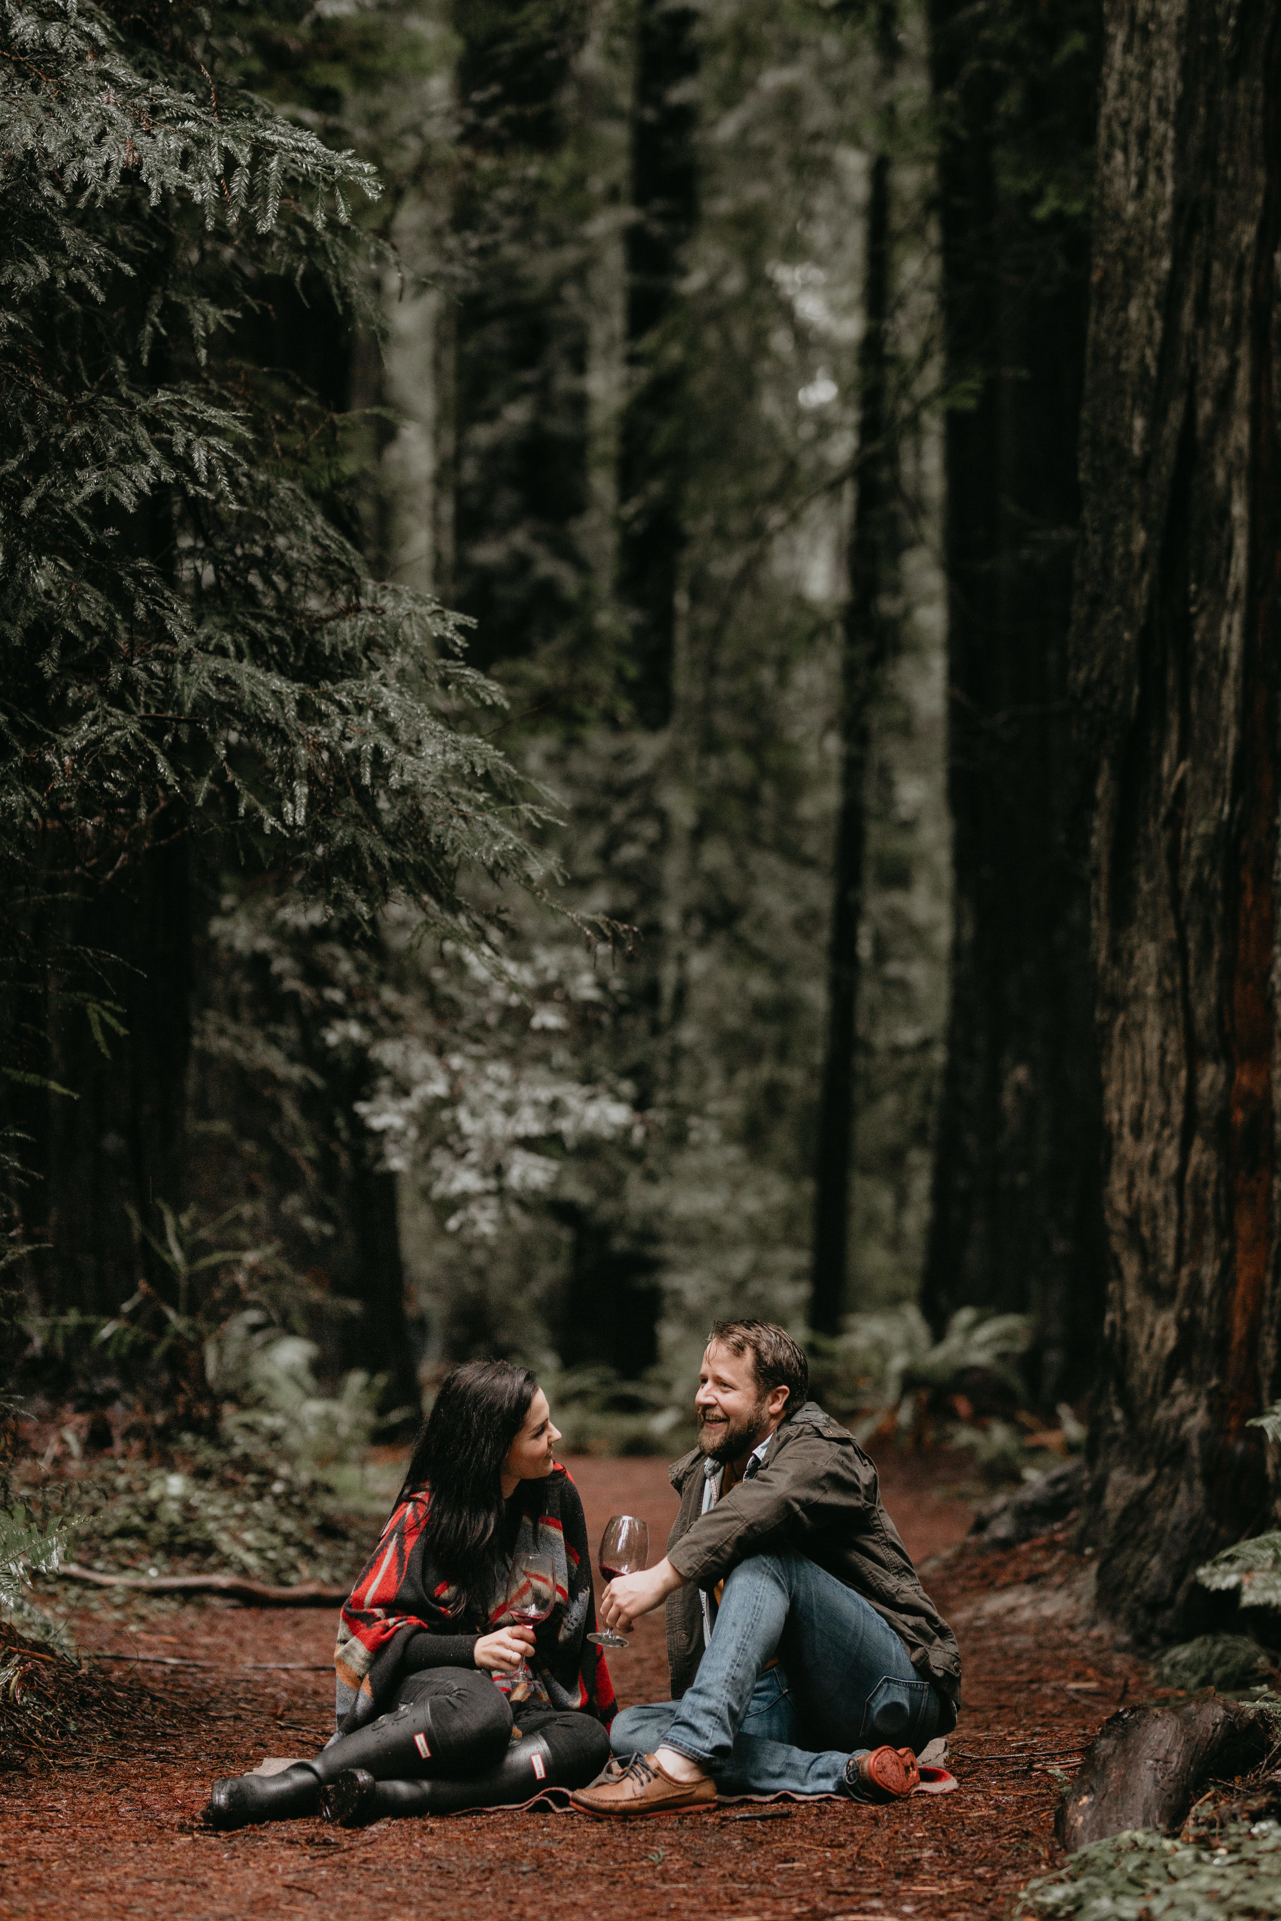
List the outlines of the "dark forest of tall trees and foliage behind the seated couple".
{"type": "Polygon", "coordinates": [[[6,213],[25,1395],[209,1423],[288,1335],[396,1433],[503,1352],[661,1447],[764,1314],[1093,1408],[1100,1539],[1202,1516],[1148,1625],[1264,1525],[1275,36],[1166,13],[6,13],[13,123],[134,77],[106,265],[6,213]]]}

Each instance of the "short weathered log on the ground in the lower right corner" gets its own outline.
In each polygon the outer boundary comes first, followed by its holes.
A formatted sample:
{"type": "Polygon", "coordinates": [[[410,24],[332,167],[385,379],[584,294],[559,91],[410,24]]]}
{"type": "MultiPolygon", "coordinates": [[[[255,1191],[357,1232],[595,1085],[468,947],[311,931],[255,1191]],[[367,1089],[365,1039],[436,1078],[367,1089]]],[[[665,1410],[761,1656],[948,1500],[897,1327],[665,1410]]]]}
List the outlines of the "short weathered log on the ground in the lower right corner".
{"type": "Polygon", "coordinates": [[[1085,1750],[1054,1833],[1068,1854],[1131,1827],[1170,1833],[1208,1779],[1250,1773],[1275,1739],[1266,1710],[1214,1696],[1185,1708],[1122,1708],[1085,1750]]]}

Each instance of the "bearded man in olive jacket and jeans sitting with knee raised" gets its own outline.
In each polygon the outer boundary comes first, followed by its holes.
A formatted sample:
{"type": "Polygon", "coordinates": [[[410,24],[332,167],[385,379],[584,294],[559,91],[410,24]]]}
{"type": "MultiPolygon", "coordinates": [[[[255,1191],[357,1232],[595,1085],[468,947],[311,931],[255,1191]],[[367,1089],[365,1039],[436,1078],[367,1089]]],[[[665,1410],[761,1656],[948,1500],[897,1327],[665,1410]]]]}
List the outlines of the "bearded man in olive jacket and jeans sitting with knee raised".
{"type": "Polygon", "coordinates": [[[876,1468],[807,1393],[782,1327],[716,1322],[666,1558],[601,1596],[622,1629],[666,1600],[674,1698],[616,1717],[611,1746],[630,1765],[574,1794],[588,1813],[703,1808],[718,1788],[891,1800],[956,1725],[956,1641],[876,1468]]]}

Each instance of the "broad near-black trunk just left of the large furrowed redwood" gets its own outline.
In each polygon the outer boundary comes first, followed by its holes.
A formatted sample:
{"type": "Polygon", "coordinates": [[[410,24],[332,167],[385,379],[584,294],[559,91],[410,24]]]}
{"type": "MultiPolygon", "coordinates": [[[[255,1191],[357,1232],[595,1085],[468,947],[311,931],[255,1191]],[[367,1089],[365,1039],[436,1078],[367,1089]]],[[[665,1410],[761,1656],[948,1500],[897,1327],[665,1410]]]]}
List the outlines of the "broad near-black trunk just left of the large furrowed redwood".
{"type": "Polygon", "coordinates": [[[1099,1082],[1068,703],[1095,0],[931,0],[947,375],[955,937],[922,1304],[1031,1310],[1037,1391],[1100,1318],[1099,1082]]]}

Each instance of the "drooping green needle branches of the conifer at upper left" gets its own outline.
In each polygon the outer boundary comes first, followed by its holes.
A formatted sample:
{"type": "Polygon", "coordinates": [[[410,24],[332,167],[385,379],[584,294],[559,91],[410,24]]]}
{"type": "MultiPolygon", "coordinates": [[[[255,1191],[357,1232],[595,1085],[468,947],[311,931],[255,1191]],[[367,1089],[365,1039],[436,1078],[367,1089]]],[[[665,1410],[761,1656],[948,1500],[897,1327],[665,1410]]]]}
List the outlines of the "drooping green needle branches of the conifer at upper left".
{"type": "Polygon", "coordinates": [[[205,830],[338,916],[471,937],[469,863],[544,872],[538,801],[461,724],[501,695],[369,578],[232,357],[273,286],[359,309],[378,182],[217,46],[181,4],[0,0],[0,889],[205,830]]]}

